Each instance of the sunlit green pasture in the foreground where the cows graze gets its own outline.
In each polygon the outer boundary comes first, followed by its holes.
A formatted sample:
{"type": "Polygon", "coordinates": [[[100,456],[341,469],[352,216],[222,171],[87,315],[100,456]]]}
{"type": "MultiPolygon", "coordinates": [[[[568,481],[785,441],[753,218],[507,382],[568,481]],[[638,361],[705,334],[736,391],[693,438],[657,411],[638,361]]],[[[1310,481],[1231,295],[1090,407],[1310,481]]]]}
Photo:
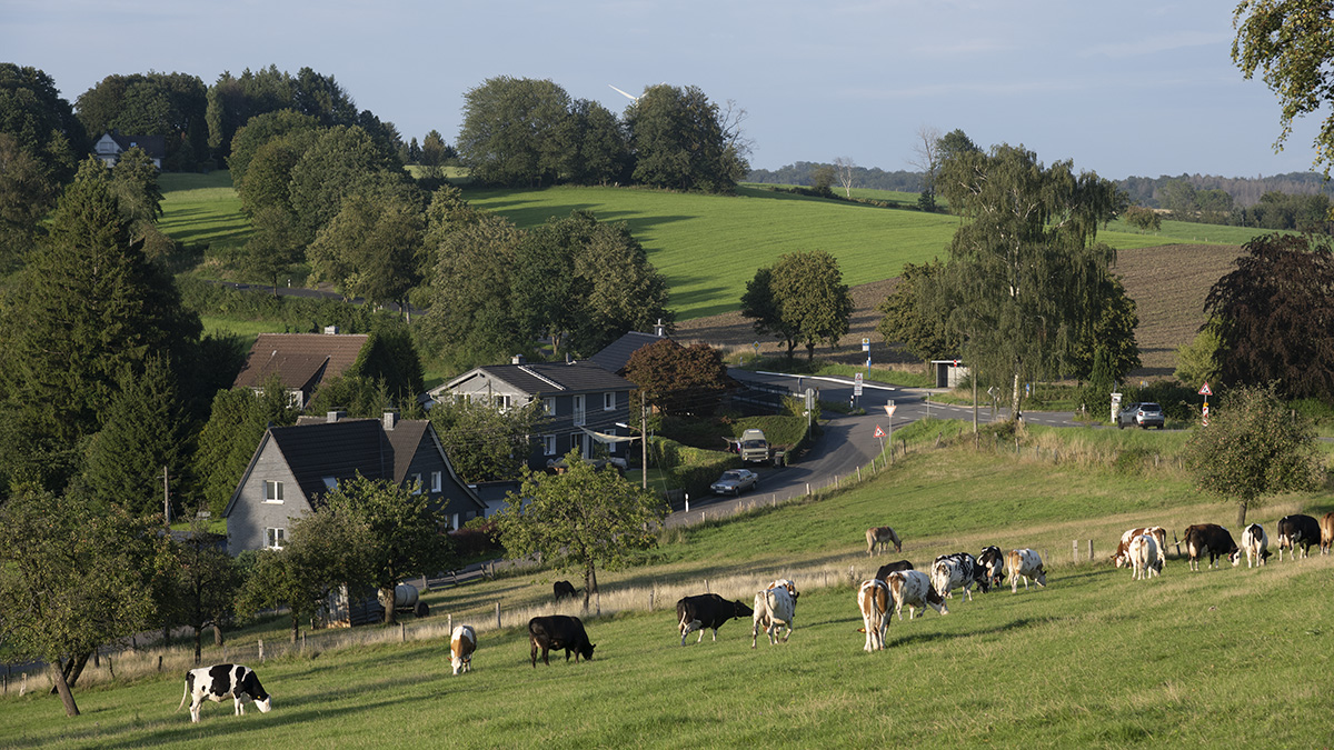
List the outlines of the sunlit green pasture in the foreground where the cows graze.
{"type": "MultiPolygon", "coordinates": [[[[80,690],[76,719],[52,697],[0,701],[0,746],[1327,743],[1334,558],[1202,573],[1170,559],[1162,578],[1133,582],[1102,562],[1122,530],[1227,524],[1234,508],[1166,467],[1109,468],[1097,451],[1081,460],[1083,438],[1065,432],[1062,463],[919,447],[856,488],[674,535],[648,565],[600,575],[604,617],[586,618],[598,645],[587,663],[528,665],[526,635],[511,623],[551,611],[556,575],[527,573],[432,593],[435,615],[423,623],[434,625],[423,633],[434,635],[422,639],[395,643],[391,630],[387,643],[324,650],[320,637],[336,633],[312,634],[305,655],[257,666],[275,697],[269,714],[232,717],[228,705],[209,703],[203,723],[191,725],[184,710],[173,713],[181,666],[80,690]],[[864,556],[862,531],[883,523],[918,567],[988,543],[1035,547],[1046,552],[1049,586],[972,602],[955,595],[948,615],[895,619],[887,650],[866,654],[850,581],[896,559],[864,556]],[[1073,539],[1081,556],[1094,539],[1098,562],[1073,563],[1073,539]],[[750,625],[732,622],[716,643],[679,645],[670,611],[678,597],[703,593],[707,579],[712,591],[748,601],[779,575],[803,591],[788,643],[762,641],[752,651],[750,625]],[[479,627],[470,675],[448,674],[447,613],[479,627]]],[[[1130,447],[1166,436],[1102,432],[1098,442],[1130,447]]],[[[1283,514],[1331,506],[1326,494],[1289,496],[1253,520],[1273,528],[1283,514]]],[[[255,635],[281,641],[284,625],[233,635],[233,653],[255,635]]]]}

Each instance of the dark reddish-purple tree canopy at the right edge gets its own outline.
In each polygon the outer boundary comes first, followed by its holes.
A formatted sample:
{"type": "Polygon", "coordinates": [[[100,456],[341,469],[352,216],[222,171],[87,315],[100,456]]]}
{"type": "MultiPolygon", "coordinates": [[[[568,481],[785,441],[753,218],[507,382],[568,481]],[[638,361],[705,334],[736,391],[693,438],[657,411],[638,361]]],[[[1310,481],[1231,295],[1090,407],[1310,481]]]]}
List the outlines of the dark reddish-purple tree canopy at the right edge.
{"type": "Polygon", "coordinates": [[[1205,298],[1218,322],[1225,383],[1278,383],[1289,398],[1334,399],[1334,256],[1327,242],[1263,235],[1205,298]]]}

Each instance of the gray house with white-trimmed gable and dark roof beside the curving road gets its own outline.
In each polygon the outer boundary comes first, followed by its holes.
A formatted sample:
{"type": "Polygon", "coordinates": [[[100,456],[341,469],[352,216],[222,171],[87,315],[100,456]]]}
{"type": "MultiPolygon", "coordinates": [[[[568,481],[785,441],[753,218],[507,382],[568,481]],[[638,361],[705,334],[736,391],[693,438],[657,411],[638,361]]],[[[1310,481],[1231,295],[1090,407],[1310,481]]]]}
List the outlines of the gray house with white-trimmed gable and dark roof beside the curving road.
{"type": "MultiPolygon", "coordinates": [[[[434,400],[472,399],[506,410],[535,400],[544,418],[532,436],[528,466],[546,468],[570,448],[592,458],[602,443],[612,458],[624,458],[630,438],[630,391],[635,384],[592,362],[543,362],[476,367],[432,388],[434,400]]],[[[638,419],[638,410],[636,410],[638,419]]]]}

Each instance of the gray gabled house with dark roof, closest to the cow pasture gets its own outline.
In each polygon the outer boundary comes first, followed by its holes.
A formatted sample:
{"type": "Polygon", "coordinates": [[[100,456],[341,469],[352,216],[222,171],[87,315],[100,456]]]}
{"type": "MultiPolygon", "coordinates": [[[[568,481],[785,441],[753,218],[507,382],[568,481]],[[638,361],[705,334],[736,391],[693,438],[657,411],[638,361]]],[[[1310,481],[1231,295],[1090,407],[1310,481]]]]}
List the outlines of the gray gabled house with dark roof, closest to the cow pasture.
{"type": "Polygon", "coordinates": [[[342,412],[269,427],[223,516],[227,551],[281,548],[292,522],[313,512],[339,482],[355,478],[420,483],[432,507],[459,528],[486,506],[454,472],[435,428],[424,419],[347,419],[342,412]]]}

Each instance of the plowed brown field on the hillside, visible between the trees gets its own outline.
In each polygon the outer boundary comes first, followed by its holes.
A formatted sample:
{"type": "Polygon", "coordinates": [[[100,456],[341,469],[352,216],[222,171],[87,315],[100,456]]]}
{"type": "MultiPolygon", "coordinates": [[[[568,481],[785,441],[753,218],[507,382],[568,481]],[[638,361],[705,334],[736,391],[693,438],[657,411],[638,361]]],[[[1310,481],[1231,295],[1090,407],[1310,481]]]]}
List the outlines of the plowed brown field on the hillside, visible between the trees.
{"type": "MultiPolygon", "coordinates": [[[[1231,271],[1233,260],[1241,255],[1238,246],[1169,244],[1118,252],[1115,272],[1126,284],[1126,292],[1135,300],[1139,327],[1139,359],[1143,367],[1134,378],[1170,376],[1177,367],[1177,347],[1190,343],[1205,322],[1205,295],[1209,287],[1231,271]]],[[[871,360],[876,364],[908,363],[912,358],[895,347],[887,347],[875,332],[879,322],[876,306],[894,290],[895,279],[852,287],[852,320],[839,351],[827,346],[816,347],[816,356],[838,362],[860,363],[862,339],[871,339],[871,360]]],[[[686,320],[676,326],[682,340],[700,340],[723,348],[751,351],[754,342],[762,352],[782,351],[774,340],[755,334],[750,320],[740,312],[726,312],[708,318],[686,320]]]]}

